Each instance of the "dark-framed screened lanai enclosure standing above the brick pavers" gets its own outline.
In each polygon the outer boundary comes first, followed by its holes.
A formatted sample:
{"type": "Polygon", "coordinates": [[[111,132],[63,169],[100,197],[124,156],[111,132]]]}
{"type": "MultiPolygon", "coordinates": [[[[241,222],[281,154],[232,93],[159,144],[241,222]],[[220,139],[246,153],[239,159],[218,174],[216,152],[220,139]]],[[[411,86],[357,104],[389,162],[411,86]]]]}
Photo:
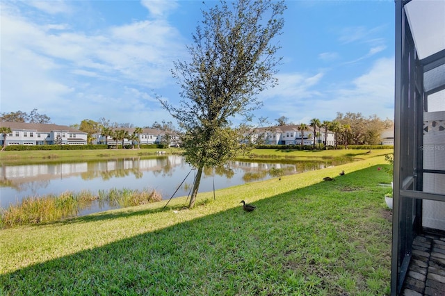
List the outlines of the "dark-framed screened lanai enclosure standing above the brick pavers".
{"type": "Polygon", "coordinates": [[[414,238],[445,237],[445,1],[395,2],[391,295],[410,277],[414,238]]]}

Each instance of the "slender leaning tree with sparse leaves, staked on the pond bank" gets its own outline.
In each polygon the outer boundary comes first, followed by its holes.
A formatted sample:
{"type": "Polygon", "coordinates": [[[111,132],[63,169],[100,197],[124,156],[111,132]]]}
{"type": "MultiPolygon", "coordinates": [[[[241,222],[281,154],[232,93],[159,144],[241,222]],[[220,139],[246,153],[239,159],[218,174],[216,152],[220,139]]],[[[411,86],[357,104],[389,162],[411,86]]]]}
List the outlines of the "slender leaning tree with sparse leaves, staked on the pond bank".
{"type": "Polygon", "coordinates": [[[275,66],[281,58],[271,40],[284,25],[284,1],[221,1],[202,11],[202,24],[188,46],[191,59],[177,61],[172,74],[181,85],[179,107],[160,99],[184,130],[186,161],[197,168],[189,207],[195,204],[204,167],[224,165],[241,145],[241,124],[261,107],[257,94],[277,83],[275,66]]]}

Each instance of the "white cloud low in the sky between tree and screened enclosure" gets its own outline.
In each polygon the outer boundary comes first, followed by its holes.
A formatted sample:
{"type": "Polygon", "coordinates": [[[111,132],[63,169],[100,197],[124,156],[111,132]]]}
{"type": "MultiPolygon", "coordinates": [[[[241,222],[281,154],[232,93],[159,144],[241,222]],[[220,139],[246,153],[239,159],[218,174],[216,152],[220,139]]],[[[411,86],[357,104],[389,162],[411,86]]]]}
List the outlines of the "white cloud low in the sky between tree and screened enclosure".
{"type": "Polygon", "coordinates": [[[368,72],[341,86],[325,85],[324,76],[282,74],[280,85],[264,94],[260,112],[306,124],[314,117],[333,120],[337,112],[394,117],[394,58],[375,60],[368,72]]]}

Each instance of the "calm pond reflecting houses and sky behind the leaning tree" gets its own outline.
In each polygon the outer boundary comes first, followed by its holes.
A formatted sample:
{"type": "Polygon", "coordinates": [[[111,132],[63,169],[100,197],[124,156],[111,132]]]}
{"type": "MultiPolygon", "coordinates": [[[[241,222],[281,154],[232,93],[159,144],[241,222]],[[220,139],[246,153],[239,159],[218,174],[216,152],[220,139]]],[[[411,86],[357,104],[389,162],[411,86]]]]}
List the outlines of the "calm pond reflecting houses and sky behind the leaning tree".
{"type": "MultiPolygon", "coordinates": [[[[225,167],[204,170],[200,192],[276,177],[274,172],[296,174],[348,163],[346,159],[307,161],[231,161],[225,167]]],[[[156,158],[118,158],[107,161],[44,163],[0,166],[0,208],[22,201],[24,197],[59,195],[62,192],[111,190],[113,188],[156,190],[163,199],[187,196],[195,170],[182,156],[156,158]],[[177,190],[177,191],[176,191],[177,190]]],[[[79,215],[106,211],[116,206],[93,203],[79,215]]]]}

